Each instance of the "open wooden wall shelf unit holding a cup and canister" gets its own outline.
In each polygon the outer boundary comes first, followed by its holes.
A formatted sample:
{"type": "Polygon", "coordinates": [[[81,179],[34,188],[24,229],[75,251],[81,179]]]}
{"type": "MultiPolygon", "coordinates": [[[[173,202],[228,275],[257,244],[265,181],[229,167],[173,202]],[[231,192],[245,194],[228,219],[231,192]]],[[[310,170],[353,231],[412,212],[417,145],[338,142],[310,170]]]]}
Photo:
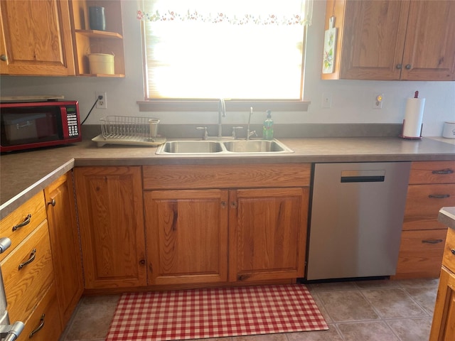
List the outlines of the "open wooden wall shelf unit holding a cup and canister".
{"type": "Polygon", "coordinates": [[[122,1],[70,0],[76,75],[92,77],[124,77],[122,1]],[[105,8],[106,31],[90,29],[89,8],[105,8]],[[90,73],[89,53],[114,55],[114,74],[90,73]]]}

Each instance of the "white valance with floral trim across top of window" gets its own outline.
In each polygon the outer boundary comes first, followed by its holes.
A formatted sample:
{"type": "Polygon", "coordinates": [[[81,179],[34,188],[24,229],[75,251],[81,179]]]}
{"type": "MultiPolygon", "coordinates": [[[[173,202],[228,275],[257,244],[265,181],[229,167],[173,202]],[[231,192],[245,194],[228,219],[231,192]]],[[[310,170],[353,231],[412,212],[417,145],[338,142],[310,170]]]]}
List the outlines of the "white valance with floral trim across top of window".
{"type": "Polygon", "coordinates": [[[313,0],[144,0],[137,18],[231,25],[311,25],[313,0]]]}

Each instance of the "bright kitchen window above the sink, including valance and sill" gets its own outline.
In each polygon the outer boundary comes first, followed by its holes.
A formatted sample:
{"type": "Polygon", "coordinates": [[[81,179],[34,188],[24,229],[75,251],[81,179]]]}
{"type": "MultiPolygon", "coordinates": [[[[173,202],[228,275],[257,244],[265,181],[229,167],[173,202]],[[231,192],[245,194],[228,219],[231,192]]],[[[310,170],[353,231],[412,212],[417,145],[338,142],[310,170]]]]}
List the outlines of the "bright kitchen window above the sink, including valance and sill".
{"type": "Polygon", "coordinates": [[[242,102],[258,109],[304,109],[312,1],[143,0],[137,17],[145,101],[139,106],[199,111],[225,98],[230,109],[242,102]]]}

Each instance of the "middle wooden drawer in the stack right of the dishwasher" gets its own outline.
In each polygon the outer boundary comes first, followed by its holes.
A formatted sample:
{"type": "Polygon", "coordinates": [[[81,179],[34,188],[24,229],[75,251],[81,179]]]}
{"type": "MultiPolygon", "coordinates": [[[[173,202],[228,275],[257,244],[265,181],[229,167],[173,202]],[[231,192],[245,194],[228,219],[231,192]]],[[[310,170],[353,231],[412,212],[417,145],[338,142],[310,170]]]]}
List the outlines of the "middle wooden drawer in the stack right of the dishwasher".
{"type": "Polygon", "coordinates": [[[409,185],[403,229],[444,229],[441,207],[455,206],[455,184],[409,185]]]}

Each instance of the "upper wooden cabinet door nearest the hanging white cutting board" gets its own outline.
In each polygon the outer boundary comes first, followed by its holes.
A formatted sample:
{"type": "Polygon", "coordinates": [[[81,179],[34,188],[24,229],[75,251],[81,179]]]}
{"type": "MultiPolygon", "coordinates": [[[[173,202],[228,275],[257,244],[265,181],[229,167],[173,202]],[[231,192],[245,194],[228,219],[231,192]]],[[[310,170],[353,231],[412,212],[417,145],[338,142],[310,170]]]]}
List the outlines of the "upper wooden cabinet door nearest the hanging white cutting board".
{"type": "Polygon", "coordinates": [[[397,65],[402,63],[409,6],[410,1],[346,1],[342,45],[336,51],[341,53],[342,79],[400,79],[397,65]]]}

